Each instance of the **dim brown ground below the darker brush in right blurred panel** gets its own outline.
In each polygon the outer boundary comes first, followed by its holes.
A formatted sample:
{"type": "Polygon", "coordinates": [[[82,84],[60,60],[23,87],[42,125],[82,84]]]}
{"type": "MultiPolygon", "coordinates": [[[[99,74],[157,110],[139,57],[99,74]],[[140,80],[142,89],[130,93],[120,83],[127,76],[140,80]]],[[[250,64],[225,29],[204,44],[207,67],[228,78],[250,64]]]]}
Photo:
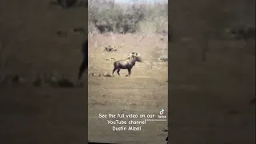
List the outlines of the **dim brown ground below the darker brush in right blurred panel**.
{"type": "Polygon", "coordinates": [[[170,143],[255,142],[255,42],[244,45],[210,42],[206,62],[193,44],[170,45],[170,143]]]}

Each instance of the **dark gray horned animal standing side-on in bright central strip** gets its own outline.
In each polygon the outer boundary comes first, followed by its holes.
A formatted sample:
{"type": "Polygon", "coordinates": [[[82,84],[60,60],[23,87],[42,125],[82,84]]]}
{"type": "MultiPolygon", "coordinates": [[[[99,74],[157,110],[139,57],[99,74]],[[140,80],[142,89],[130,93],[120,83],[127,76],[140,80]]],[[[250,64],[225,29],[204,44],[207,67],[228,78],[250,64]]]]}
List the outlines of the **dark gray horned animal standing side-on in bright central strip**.
{"type": "Polygon", "coordinates": [[[135,56],[134,58],[127,58],[126,60],[119,60],[114,62],[114,70],[112,75],[114,74],[115,70],[118,70],[118,75],[120,76],[119,72],[121,69],[127,69],[128,70],[128,74],[126,75],[130,77],[131,74],[131,69],[133,68],[133,66],[135,65],[135,62],[142,62],[142,58],[138,56],[135,56]]]}

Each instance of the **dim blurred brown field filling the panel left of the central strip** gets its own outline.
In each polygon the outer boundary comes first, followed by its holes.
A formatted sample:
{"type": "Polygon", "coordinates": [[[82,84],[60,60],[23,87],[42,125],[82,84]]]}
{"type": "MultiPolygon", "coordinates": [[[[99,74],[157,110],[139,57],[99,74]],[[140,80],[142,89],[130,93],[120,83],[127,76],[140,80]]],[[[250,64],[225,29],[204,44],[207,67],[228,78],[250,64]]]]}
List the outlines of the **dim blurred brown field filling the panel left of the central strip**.
{"type": "Polygon", "coordinates": [[[8,61],[4,70],[28,81],[0,86],[0,143],[85,143],[86,87],[34,87],[32,82],[36,74],[54,71],[77,78],[84,36],[70,29],[86,26],[86,9],[62,10],[48,0],[0,3],[0,42],[5,45],[1,56],[8,61]],[[67,36],[59,37],[58,30],[67,36]]]}

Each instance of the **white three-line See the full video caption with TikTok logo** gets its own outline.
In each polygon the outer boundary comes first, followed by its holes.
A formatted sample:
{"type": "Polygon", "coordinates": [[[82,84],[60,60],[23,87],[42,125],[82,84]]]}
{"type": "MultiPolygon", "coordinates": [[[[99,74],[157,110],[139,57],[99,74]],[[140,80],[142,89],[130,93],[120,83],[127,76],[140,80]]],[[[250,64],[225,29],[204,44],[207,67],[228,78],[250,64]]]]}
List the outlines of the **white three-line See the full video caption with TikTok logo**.
{"type": "Polygon", "coordinates": [[[166,121],[166,111],[160,110],[158,114],[98,114],[98,118],[106,119],[106,124],[110,125],[112,130],[140,131],[143,125],[149,122],[166,121]]]}

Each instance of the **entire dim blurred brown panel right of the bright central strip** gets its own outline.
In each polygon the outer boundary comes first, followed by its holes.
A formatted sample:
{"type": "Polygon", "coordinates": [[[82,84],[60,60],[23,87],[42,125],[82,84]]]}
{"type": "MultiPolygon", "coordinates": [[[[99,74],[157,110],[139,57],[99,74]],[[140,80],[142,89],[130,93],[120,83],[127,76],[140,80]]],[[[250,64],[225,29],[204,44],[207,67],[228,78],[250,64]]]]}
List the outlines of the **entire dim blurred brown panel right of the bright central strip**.
{"type": "Polygon", "coordinates": [[[254,5],[169,2],[175,40],[169,43],[170,143],[255,143],[255,38],[245,42],[223,34],[239,24],[255,27],[254,5]]]}

